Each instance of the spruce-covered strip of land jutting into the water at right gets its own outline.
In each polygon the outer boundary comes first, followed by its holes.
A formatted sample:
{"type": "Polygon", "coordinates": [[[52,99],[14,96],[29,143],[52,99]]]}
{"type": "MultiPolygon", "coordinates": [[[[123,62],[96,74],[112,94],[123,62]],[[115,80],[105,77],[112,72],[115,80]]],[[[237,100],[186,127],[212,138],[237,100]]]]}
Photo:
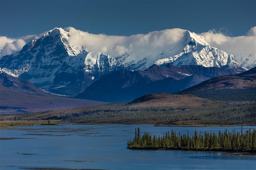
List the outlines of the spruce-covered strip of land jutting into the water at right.
{"type": "Polygon", "coordinates": [[[193,151],[230,151],[230,152],[256,152],[256,130],[249,129],[243,133],[219,131],[218,134],[195,131],[192,136],[189,133],[181,135],[173,130],[171,133],[163,133],[162,136],[144,133],[140,135],[140,129],[135,129],[135,137],[128,141],[129,149],[139,150],[193,150],[193,151]]]}

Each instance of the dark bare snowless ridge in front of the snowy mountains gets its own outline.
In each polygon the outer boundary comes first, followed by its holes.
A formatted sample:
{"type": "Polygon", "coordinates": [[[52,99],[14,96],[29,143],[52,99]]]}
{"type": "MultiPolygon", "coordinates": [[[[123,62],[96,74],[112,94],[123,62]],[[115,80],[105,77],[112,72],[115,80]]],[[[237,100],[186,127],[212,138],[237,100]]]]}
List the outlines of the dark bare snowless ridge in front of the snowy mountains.
{"type": "Polygon", "coordinates": [[[150,93],[174,93],[196,85],[204,80],[244,70],[217,67],[153,65],[145,71],[119,70],[95,81],[84,92],[75,96],[99,101],[132,100],[150,93]]]}

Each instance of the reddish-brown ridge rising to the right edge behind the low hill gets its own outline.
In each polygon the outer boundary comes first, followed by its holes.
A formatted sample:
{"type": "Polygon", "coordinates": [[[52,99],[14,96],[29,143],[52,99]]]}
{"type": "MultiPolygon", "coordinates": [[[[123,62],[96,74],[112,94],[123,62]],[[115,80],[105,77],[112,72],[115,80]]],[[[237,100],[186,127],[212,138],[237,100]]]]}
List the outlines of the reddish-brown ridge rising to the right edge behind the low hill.
{"type": "Polygon", "coordinates": [[[256,67],[243,73],[203,81],[177,94],[193,94],[216,100],[256,101],[256,67]]]}

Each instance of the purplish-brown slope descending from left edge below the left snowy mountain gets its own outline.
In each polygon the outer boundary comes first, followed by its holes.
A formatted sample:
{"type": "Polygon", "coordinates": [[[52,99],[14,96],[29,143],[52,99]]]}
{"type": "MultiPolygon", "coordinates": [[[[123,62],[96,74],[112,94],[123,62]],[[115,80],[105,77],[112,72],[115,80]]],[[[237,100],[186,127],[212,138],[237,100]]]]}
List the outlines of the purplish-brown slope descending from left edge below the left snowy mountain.
{"type": "Polygon", "coordinates": [[[32,113],[104,103],[53,95],[27,80],[0,73],[0,114],[32,113]]]}

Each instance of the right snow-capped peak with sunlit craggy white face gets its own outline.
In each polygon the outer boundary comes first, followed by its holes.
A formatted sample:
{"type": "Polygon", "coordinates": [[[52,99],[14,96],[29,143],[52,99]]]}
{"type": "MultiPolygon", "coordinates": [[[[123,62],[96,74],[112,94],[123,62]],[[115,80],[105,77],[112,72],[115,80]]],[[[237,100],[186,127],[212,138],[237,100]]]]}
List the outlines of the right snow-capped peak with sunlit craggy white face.
{"type": "Polygon", "coordinates": [[[241,68],[233,55],[211,47],[203,36],[187,31],[185,48],[177,55],[157,60],[156,65],[165,66],[172,63],[174,66],[199,65],[204,67],[241,68]]]}

